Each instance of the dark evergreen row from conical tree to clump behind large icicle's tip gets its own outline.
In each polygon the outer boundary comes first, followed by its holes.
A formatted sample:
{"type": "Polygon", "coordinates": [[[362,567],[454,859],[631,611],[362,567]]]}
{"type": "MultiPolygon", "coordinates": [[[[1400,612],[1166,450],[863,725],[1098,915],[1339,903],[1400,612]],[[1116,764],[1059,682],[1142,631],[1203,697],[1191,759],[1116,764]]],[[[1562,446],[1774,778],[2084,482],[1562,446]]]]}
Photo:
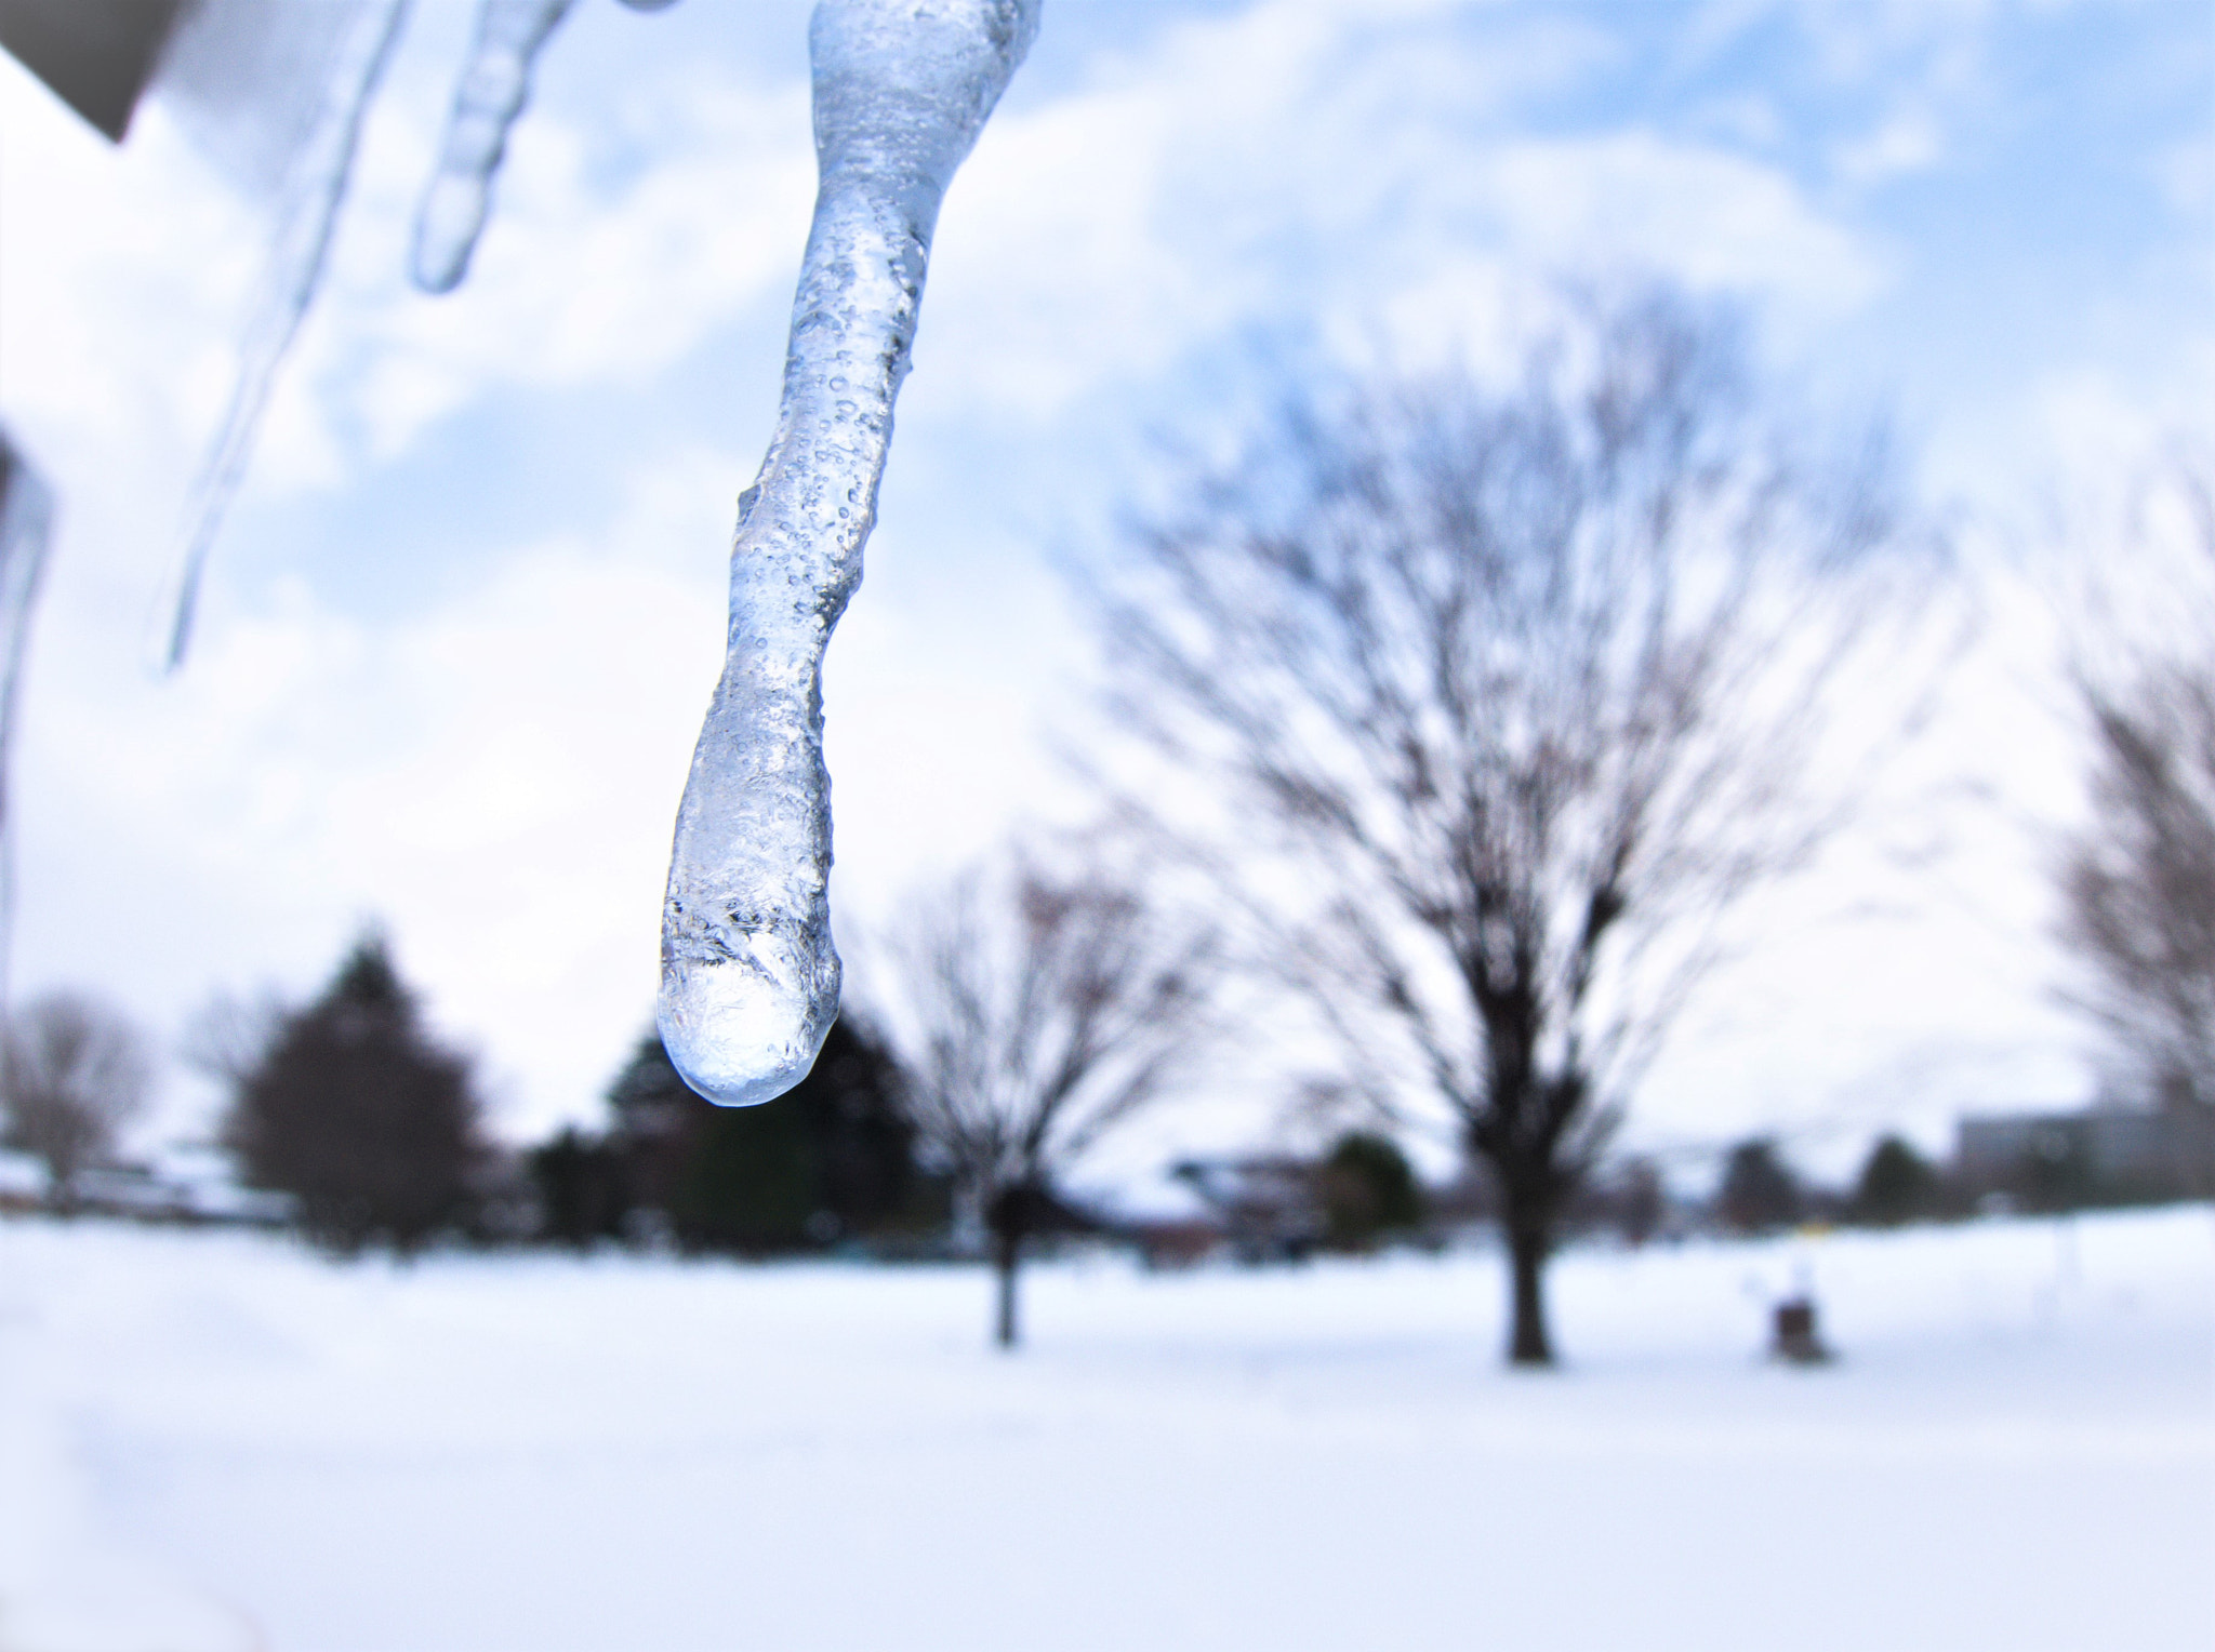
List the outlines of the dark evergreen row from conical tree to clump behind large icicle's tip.
{"type": "Polygon", "coordinates": [[[693,1094],[647,1032],[600,1129],[498,1149],[467,1054],[423,1023],[390,948],[365,935],[308,1005],[224,1010],[195,1056],[226,1081],[222,1140],[250,1187],[292,1200],[334,1251],[439,1238],[667,1242],[773,1256],[944,1227],[948,1178],[917,1163],[899,1070],[842,1016],[775,1107],[693,1094]]]}

